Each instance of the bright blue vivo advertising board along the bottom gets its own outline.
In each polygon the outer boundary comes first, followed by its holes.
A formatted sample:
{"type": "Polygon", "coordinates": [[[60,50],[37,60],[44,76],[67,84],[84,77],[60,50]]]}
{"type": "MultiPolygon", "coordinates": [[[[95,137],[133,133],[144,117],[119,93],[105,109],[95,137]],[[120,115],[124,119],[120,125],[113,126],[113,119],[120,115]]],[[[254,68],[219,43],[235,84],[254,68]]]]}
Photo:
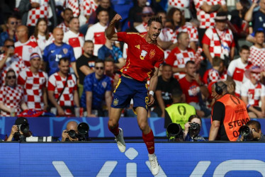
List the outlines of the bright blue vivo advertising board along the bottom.
{"type": "MultiPolygon", "coordinates": [[[[0,143],[0,176],[152,176],[144,143],[0,143]]],[[[158,176],[265,176],[263,143],[155,145],[158,176]]]]}

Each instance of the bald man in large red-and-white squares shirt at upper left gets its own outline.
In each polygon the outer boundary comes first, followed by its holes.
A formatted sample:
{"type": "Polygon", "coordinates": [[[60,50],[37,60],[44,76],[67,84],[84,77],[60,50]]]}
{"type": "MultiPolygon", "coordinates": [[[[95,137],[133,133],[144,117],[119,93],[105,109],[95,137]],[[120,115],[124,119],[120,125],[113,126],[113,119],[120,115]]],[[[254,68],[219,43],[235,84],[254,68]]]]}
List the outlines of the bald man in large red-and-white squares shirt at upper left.
{"type": "Polygon", "coordinates": [[[38,53],[41,55],[40,47],[38,43],[28,38],[28,27],[26,25],[20,25],[16,28],[16,37],[18,42],[15,42],[15,54],[24,61],[26,67],[30,67],[30,55],[32,53],[38,53]]]}

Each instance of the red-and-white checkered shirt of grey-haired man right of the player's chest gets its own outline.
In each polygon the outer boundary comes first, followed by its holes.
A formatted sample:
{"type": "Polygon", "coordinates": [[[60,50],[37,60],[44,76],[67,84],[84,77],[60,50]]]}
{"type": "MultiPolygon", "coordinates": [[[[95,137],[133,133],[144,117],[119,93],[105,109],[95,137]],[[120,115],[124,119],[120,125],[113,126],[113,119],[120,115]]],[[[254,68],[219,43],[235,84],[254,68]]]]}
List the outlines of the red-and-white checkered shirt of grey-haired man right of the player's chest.
{"type": "MultiPolygon", "coordinates": [[[[169,56],[166,59],[166,63],[170,64],[172,67],[184,68],[186,62],[193,60],[195,61],[195,52],[191,48],[186,50],[180,50],[179,47],[175,47],[174,50],[171,50],[169,56]]],[[[184,78],[186,74],[184,72],[174,73],[176,79],[184,78]]]]}

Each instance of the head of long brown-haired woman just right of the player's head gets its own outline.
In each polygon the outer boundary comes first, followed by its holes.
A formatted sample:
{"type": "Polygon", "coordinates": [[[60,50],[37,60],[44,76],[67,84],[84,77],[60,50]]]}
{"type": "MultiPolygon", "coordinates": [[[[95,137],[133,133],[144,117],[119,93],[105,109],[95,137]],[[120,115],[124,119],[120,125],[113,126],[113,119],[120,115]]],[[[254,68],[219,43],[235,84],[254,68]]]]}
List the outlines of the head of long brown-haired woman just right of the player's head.
{"type": "Polygon", "coordinates": [[[182,14],[182,11],[179,10],[179,8],[172,7],[167,12],[167,18],[171,21],[173,24],[172,30],[177,30],[179,27],[183,26],[185,24],[185,18],[182,14]]]}

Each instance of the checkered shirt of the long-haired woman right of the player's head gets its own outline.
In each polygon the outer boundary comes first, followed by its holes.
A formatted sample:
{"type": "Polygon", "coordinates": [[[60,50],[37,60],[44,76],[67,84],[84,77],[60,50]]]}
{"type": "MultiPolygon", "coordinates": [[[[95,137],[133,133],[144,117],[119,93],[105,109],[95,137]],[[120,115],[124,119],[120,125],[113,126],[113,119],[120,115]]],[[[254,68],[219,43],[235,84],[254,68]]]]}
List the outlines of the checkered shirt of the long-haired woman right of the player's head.
{"type": "Polygon", "coordinates": [[[175,36],[177,36],[180,32],[188,33],[188,37],[190,38],[191,42],[198,42],[198,30],[191,23],[186,22],[185,25],[177,29],[175,36]]]}

